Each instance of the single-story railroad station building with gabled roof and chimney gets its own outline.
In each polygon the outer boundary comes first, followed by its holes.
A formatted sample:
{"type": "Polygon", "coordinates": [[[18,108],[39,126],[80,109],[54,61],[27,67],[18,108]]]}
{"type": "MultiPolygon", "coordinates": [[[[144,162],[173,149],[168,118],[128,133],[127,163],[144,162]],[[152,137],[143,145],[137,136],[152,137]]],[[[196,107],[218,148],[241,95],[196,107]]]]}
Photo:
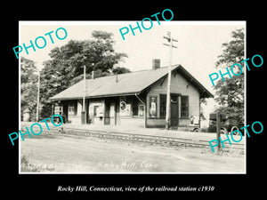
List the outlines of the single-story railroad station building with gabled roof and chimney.
{"type": "MultiPolygon", "coordinates": [[[[168,67],[152,60],[151,69],[82,80],[50,100],[67,123],[165,127],[167,76],[168,67]]],[[[213,97],[185,68],[172,66],[171,126],[199,127],[200,99],[213,97]]]]}

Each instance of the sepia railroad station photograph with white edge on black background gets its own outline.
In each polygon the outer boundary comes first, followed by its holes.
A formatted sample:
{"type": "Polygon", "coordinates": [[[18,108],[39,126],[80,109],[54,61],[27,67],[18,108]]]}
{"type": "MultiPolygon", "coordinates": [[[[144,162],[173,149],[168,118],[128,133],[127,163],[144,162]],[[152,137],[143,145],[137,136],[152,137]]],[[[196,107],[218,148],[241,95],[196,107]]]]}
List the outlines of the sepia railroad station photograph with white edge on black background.
{"type": "Polygon", "coordinates": [[[246,21],[144,22],[19,21],[20,174],[246,174],[246,21]]]}

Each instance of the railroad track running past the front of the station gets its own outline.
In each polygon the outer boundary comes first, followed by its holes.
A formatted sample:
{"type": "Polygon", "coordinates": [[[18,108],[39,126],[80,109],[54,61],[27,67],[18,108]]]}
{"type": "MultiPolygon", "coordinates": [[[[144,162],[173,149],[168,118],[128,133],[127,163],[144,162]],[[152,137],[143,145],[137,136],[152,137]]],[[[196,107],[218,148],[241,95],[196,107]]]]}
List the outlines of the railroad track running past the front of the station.
{"type": "MultiPolygon", "coordinates": [[[[25,130],[24,127],[21,127],[22,130],[25,130]]],[[[21,130],[21,131],[22,131],[21,130]]],[[[36,130],[38,132],[39,130],[36,130]]],[[[71,135],[79,137],[94,137],[100,139],[108,140],[125,140],[133,142],[142,142],[150,143],[152,145],[164,145],[164,146],[184,146],[184,147],[193,147],[193,148],[210,148],[208,140],[190,140],[177,137],[167,137],[167,136],[152,136],[144,134],[134,134],[126,132],[105,132],[105,131],[95,131],[87,129],[75,129],[75,128],[61,128],[61,127],[51,127],[50,131],[43,130],[42,133],[56,133],[62,135],[71,135]]],[[[244,149],[244,144],[224,143],[225,148],[235,148],[235,149],[244,149]]]]}

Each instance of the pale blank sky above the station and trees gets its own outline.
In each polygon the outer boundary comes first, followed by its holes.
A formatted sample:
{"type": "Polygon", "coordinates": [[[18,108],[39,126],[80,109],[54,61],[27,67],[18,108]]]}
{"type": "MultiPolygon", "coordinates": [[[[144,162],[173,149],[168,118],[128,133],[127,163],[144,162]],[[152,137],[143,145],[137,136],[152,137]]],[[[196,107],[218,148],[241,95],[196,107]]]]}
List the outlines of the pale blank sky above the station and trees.
{"type": "MultiPolygon", "coordinates": [[[[141,24],[140,20],[136,20],[141,24]]],[[[222,54],[222,44],[231,41],[231,31],[245,28],[245,21],[152,21],[153,26],[149,30],[142,28],[142,33],[137,28],[132,34],[129,25],[136,27],[136,21],[20,21],[19,44],[28,46],[30,40],[34,43],[36,37],[53,31],[53,42],[49,36],[44,36],[46,46],[43,49],[28,49],[28,54],[23,50],[20,56],[36,62],[36,67],[44,68],[44,60],[50,60],[49,52],[56,46],[67,44],[69,40],[85,40],[92,38],[93,30],[103,30],[113,34],[116,52],[125,52],[128,58],[117,66],[129,68],[131,71],[150,69],[153,59],[160,60],[160,66],[166,67],[169,63],[169,48],[166,43],[167,31],[178,42],[174,42],[177,48],[173,48],[172,64],[181,64],[192,76],[198,79],[207,90],[214,93],[212,83],[208,75],[218,70],[214,67],[218,55],[222,54]],[[129,33],[123,40],[119,29],[127,27],[129,33]],[[65,28],[68,36],[59,40],[54,34],[58,28],[65,28]]],[[[150,22],[148,22],[150,23],[150,22]]],[[[150,24],[144,24],[150,27],[150,24]]],[[[246,32],[246,31],[245,31],[246,32]]],[[[63,36],[63,32],[59,31],[63,36]]],[[[42,40],[38,40],[42,44],[42,40]]],[[[15,55],[14,55],[15,56],[15,55]]],[[[208,100],[206,115],[214,108],[214,101],[208,100]]],[[[208,117],[208,116],[207,116],[208,117]]]]}

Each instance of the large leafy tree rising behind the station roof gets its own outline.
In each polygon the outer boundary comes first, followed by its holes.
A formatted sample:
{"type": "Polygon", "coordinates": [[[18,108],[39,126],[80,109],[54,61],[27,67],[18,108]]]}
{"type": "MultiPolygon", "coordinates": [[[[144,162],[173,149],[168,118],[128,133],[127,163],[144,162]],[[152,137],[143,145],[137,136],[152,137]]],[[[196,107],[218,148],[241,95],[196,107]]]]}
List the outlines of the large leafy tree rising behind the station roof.
{"type": "MultiPolygon", "coordinates": [[[[125,53],[115,52],[112,34],[104,31],[93,31],[92,40],[70,40],[68,44],[56,47],[50,52],[51,60],[44,61],[41,72],[40,98],[44,105],[41,115],[46,117],[51,113],[53,95],[62,92],[73,84],[77,84],[84,76],[86,78],[108,76],[125,53]]],[[[120,73],[123,69],[120,69],[120,73]]]]}

